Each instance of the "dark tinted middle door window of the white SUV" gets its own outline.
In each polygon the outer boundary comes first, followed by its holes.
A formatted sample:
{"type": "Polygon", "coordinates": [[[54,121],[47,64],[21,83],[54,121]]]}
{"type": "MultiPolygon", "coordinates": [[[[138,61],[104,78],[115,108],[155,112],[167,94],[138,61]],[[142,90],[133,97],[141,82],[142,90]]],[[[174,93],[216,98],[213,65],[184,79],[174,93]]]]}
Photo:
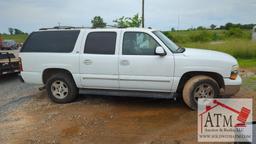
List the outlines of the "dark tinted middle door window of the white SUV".
{"type": "Polygon", "coordinates": [[[115,32],[91,32],[87,36],[84,53],[113,55],[115,48],[115,32]]]}

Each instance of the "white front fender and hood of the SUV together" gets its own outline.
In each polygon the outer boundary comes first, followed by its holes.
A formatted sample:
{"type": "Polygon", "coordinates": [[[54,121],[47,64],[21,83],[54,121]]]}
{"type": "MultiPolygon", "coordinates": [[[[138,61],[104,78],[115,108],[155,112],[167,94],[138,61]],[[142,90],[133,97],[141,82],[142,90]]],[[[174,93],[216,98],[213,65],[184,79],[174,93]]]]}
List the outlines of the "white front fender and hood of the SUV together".
{"type": "Polygon", "coordinates": [[[184,53],[175,54],[175,76],[186,72],[214,72],[230,77],[237,60],[231,55],[203,49],[186,48],[184,53]]]}

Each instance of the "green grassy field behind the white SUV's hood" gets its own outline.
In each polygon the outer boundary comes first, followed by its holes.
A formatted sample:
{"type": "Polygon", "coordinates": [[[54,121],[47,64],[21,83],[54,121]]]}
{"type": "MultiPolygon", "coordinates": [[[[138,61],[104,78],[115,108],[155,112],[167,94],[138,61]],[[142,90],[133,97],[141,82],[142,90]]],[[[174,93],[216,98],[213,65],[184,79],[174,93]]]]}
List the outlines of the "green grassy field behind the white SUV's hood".
{"type": "Polygon", "coordinates": [[[186,30],[165,34],[183,47],[225,52],[237,58],[241,67],[256,69],[256,42],[251,41],[250,30],[186,30]]]}

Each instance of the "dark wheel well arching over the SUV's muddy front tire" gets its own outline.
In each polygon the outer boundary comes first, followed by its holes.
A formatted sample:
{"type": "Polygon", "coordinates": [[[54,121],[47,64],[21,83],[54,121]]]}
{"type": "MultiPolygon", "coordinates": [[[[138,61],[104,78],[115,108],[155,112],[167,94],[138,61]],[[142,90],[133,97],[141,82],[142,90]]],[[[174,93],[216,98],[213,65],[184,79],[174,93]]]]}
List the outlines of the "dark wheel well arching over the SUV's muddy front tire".
{"type": "Polygon", "coordinates": [[[183,90],[183,88],[184,88],[184,86],[186,84],[186,82],[190,78],[192,78],[194,76],[198,76],[198,75],[209,76],[209,77],[213,78],[214,80],[216,80],[216,82],[218,83],[220,88],[224,88],[225,87],[224,79],[218,73],[214,73],[214,72],[187,72],[187,73],[183,74],[183,76],[180,79],[180,82],[179,82],[179,85],[178,85],[178,88],[177,88],[177,93],[181,94],[182,90],[183,90]]]}

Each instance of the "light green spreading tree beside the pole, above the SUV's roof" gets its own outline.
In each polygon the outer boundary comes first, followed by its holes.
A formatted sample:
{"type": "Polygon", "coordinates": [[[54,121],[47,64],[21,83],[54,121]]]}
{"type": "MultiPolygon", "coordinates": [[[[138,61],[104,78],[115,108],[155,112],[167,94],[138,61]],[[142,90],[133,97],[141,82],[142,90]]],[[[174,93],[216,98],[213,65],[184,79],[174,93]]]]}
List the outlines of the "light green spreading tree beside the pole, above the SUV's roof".
{"type": "Polygon", "coordinates": [[[127,27],[140,27],[142,24],[142,19],[139,16],[139,14],[134,15],[132,18],[130,17],[121,17],[113,21],[115,26],[121,27],[121,28],[127,28],[127,27]]]}

